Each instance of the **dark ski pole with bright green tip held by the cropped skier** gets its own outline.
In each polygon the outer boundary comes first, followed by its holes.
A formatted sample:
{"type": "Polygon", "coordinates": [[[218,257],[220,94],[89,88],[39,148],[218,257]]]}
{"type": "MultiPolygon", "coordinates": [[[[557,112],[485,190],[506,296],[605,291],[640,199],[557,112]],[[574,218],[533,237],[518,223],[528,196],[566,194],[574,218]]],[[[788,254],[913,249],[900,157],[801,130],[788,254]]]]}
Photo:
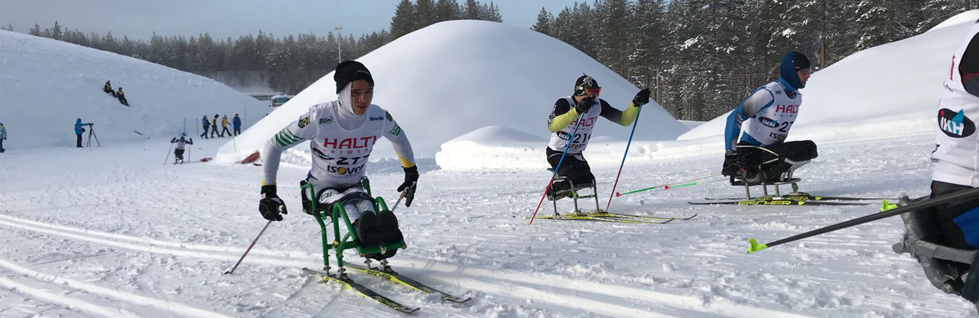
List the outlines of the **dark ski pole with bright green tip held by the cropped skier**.
{"type": "MultiPolygon", "coordinates": [[[[765,250],[765,249],[768,249],[768,248],[771,248],[771,247],[780,246],[780,245],[783,245],[783,244],[786,244],[786,243],[799,241],[799,240],[802,240],[802,239],[805,239],[805,238],[809,238],[809,237],[814,237],[816,235],[825,234],[825,233],[829,233],[829,232],[833,232],[833,231],[837,231],[837,230],[842,230],[842,229],[845,229],[845,228],[848,228],[848,227],[851,227],[851,226],[854,226],[854,225],[860,225],[860,224],[863,224],[863,223],[876,221],[876,220],[879,220],[879,219],[882,219],[882,218],[885,218],[885,217],[891,217],[891,216],[894,216],[894,215],[900,215],[900,214],[904,214],[904,213],[907,213],[907,212],[910,212],[910,211],[915,211],[915,210],[919,210],[919,209],[922,209],[922,208],[928,208],[928,207],[932,207],[932,206],[935,206],[935,205],[945,204],[945,203],[948,203],[948,202],[956,201],[956,200],[959,200],[959,199],[966,199],[966,198],[979,198],[979,188],[972,188],[972,189],[965,190],[965,191],[959,191],[959,192],[956,192],[956,193],[951,194],[951,195],[946,195],[946,196],[938,197],[938,198],[935,198],[935,199],[932,199],[932,200],[928,200],[928,201],[923,201],[923,202],[920,202],[920,203],[917,203],[917,204],[909,204],[909,205],[905,205],[905,206],[896,207],[896,208],[893,208],[893,209],[890,209],[890,210],[886,210],[886,211],[883,211],[883,212],[873,213],[873,214],[870,214],[870,215],[864,215],[864,216],[861,216],[861,217],[858,217],[858,218],[855,218],[855,219],[851,219],[851,220],[848,220],[848,221],[836,223],[836,224],[833,224],[833,225],[830,225],[830,226],[826,226],[826,227],[822,227],[822,228],[818,228],[816,230],[809,231],[809,232],[806,232],[806,233],[803,233],[803,234],[799,234],[799,235],[795,235],[795,236],[792,236],[792,237],[789,237],[789,238],[785,238],[785,239],[781,239],[781,240],[778,240],[778,241],[775,241],[775,242],[771,242],[769,244],[758,244],[758,241],[755,241],[755,239],[753,239],[753,238],[749,238],[748,239],[748,243],[751,245],[751,247],[748,248],[748,252],[755,252],[755,251],[759,251],[759,250],[765,250]]],[[[884,205],[889,205],[886,200],[884,201],[884,205]]]]}

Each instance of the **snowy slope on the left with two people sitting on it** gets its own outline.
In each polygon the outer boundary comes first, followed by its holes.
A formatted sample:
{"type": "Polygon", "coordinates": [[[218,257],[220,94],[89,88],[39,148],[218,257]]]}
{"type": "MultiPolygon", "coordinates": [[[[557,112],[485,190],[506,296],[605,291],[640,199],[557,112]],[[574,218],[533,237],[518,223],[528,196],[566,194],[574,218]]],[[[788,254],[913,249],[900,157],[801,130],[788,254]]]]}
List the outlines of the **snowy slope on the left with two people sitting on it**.
{"type": "Polygon", "coordinates": [[[73,146],[79,117],[94,122],[106,144],[179,135],[184,117],[193,136],[205,114],[227,114],[229,120],[240,114],[247,126],[268,112],[261,102],[207,77],[5,30],[0,69],[0,122],[10,150],[73,146]],[[102,91],[106,80],[114,89],[122,87],[130,107],[102,91]]]}

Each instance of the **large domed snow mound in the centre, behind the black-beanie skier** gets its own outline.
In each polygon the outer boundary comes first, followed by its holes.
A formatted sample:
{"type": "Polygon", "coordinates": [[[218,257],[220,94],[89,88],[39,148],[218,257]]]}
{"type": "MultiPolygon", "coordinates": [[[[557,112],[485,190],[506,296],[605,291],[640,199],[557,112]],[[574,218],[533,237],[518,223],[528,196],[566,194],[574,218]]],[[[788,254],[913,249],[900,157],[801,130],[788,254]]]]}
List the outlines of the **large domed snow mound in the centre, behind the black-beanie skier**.
{"type": "MultiPolygon", "coordinates": [[[[638,91],[629,81],[577,49],[535,31],[480,21],[437,23],[398,38],[358,59],[376,82],[374,104],[391,112],[415,154],[431,157],[444,142],[476,127],[501,125],[541,138],[554,101],[572,93],[587,73],[602,86],[602,98],[624,109],[638,91]]],[[[317,103],[336,99],[333,73],[326,74],[276,112],[256,123],[218,159],[237,159],[260,149],[273,134],[317,103]]],[[[638,140],[672,140],[686,131],[662,107],[642,112],[638,140]]],[[[626,139],[629,127],[604,125],[599,135],[626,139]]],[[[387,142],[384,142],[387,144],[387,142]]],[[[308,152],[308,147],[295,148],[308,152]]],[[[374,158],[393,156],[378,145],[374,158]]]]}

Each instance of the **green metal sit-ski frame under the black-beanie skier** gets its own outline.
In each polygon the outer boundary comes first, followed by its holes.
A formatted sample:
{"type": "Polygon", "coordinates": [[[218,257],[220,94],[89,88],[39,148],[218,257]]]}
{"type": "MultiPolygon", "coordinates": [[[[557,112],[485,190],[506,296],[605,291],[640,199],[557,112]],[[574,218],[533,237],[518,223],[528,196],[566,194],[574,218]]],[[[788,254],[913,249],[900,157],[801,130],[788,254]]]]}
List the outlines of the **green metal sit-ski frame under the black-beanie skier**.
{"type": "MultiPolygon", "coordinates": [[[[360,179],[360,184],[363,185],[364,190],[367,191],[367,196],[371,196],[370,180],[364,177],[363,179],[360,179]]],[[[309,198],[310,202],[310,211],[312,212],[312,216],[316,218],[316,222],[319,223],[320,237],[323,241],[323,270],[325,270],[327,273],[330,272],[330,255],[328,247],[331,246],[333,247],[334,252],[337,254],[337,266],[340,268],[341,278],[344,278],[347,275],[344,269],[344,250],[356,249],[357,253],[363,257],[364,255],[368,254],[384,253],[388,250],[403,250],[408,248],[408,246],[404,244],[404,240],[379,247],[361,246],[358,243],[359,240],[357,240],[356,231],[353,230],[353,223],[350,222],[350,217],[347,216],[347,210],[344,208],[344,204],[339,202],[333,204],[332,211],[327,214],[326,208],[319,208],[317,206],[319,204],[317,202],[319,198],[316,197],[315,190],[313,189],[312,185],[309,183],[304,183],[302,184],[301,188],[304,193],[308,194],[307,198],[309,198]],[[339,220],[341,218],[343,218],[344,224],[347,225],[347,235],[343,238],[340,237],[339,220]],[[326,223],[324,222],[324,219],[329,219],[330,222],[333,223],[333,233],[335,238],[332,244],[328,243],[329,241],[327,241],[326,223]]],[[[385,204],[384,199],[381,197],[375,198],[373,204],[375,212],[388,209],[388,204],[385,204]]]]}

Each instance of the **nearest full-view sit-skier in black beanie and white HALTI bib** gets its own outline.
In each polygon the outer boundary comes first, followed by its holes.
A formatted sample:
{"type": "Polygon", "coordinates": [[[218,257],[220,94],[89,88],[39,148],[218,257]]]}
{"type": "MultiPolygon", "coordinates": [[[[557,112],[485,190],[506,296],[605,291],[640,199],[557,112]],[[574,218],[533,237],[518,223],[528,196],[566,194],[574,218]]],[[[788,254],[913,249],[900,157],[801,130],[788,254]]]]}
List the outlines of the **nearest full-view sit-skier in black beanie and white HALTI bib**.
{"type": "MultiPolygon", "coordinates": [[[[258,211],[268,220],[281,221],[286,206],[276,195],[276,174],[282,152],[315,140],[312,147],[312,167],[306,179],[315,190],[315,198],[307,198],[303,192],[303,209],[306,201],[315,200],[317,209],[331,210],[333,204],[343,204],[355,228],[359,244],[377,247],[381,243],[393,244],[403,240],[397,226],[397,218],[390,210],[376,210],[372,199],[361,184],[374,144],[381,137],[391,141],[404,168],[404,183],[397,187],[405,195],[405,206],[414,200],[418,181],[418,167],[408,138],[391,114],[371,104],[374,79],[362,64],[347,61],[337,66],[334,73],[338,100],[315,105],[282,129],[265,143],[262,154],[264,177],[258,211]],[[336,118],[335,120],[325,120],[336,118]],[[376,119],[380,118],[380,119],[376,119]],[[323,120],[321,120],[323,119],[323,120]],[[322,123],[321,123],[322,122],[322,123]],[[339,197],[339,199],[337,199],[339,197]]],[[[311,203],[310,203],[311,205],[311,203]]],[[[366,257],[383,259],[394,255],[396,250],[369,254],[366,257]]]]}

